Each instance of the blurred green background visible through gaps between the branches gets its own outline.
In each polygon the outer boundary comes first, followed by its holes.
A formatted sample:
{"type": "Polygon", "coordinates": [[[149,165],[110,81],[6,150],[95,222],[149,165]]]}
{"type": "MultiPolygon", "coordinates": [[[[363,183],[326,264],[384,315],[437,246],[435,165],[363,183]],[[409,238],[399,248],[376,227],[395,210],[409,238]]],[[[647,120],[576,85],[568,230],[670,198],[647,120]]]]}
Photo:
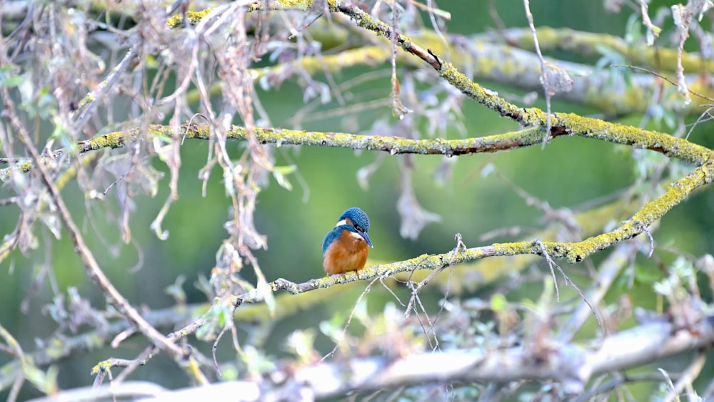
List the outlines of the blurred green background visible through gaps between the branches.
{"type": "MultiPolygon", "coordinates": [[[[520,0],[495,1],[501,19],[508,27],[526,26],[523,2],[520,0]]],[[[441,8],[451,11],[452,21],[448,30],[453,33],[481,33],[492,29],[494,24],[488,16],[487,1],[442,1],[441,8]]],[[[650,10],[665,4],[653,1],[650,10]]],[[[567,26],[573,29],[593,32],[613,33],[622,36],[628,12],[606,14],[601,1],[533,1],[531,3],[536,26],[567,26]]],[[[668,27],[665,26],[665,29],[668,27]]],[[[561,56],[561,55],[553,55],[561,56]]],[[[592,61],[591,61],[592,62],[592,61]]],[[[388,68],[388,66],[383,66],[388,68]]],[[[371,68],[351,68],[338,76],[338,81],[371,71],[371,68]]],[[[316,77],[318,80],[320,76],[316,77]]],[[[501,88],[489,83],[482,83],[496,91],[518,93],[513,88],[501,88]]],[[[357,89],[365,93],[376,91],[389,94],[389,78],[369,81],[366,86],[357,89]]],[[[266,105],[272,123],[276,127],[292,128],[288,121],[303,106],[303,94],[294,83],[284,83],[278,90],[258,91],[263,105],[266,105]]],[[[540,97],[542,98],[542,96],[540,97]]],[[[544,107],[544,103],[536,103],[544,107]]],[[[335,108],[328,105],[323,110],[335,108]]],[[[556,96],[553,110],[596,115],[598,110],[580,108],[578,105],[558,102],[556,96]]],[[[388,106],[381,110],[370,110],[356,116],[361,123],[391,115],[388,106]]],[[[509,120],[486,110],[481,105],[466,100],[463,103],[464,125],[468,137],[477,137],[518,127],[509,120]]],[[[306,130],[346,131],[343,128],[345,118],[325,118],[309,121],[302,125],[306,130]]],[[[393,118],[396,120],[396,118],[393,118]]],[[[637,125],[640,116],[632,116],[623,123],[637,125]]],[[[362,127],[368,128],[366,125],[362,127]]],[[[667,127],[650,127],[668,132],[667,127]]],[[[425,135],[426,137],[426,135],[425,135]]],[[[451,130],[447,138],[461,138],[457,130],[451,130]]],[[[695,128],[690,140],[703,145],[712,145],[705,138],[702,128],[695,128]]],[[[231,143],[235,150],[242,150],[243,144],[231,143]]],[[[119,151],[121,152],[121,150],[119,151]]],[[[158,158],[154,158],[154,167],[166,172],[161,181],[159,195],[151,198],[139,195],[134,198],[136,208],[131,215],[131,234],[137,244],[141,244],[143,265],[132,270],[140,257],[131,244],[121,243],[116,226],[104,220],[99,212],[104,209],[102,203],[112,205],[116,210],[116,198],[110,192],[104,201],[85,201],[76,185],[69,185],[63,190],[74,219],[79,222],[87,234],[87,240],[95,253],[104,272],[124,296],[136,306],[161,309],[174,304],[173,299],[164,293],[164,288],[173,284],[179,275],[186,278],[183,289],[188,294],[189,303],[205,301],[205,297],[193,287],[199,275],[208,277],[215,263],[216,249],[227,237],[223,222],[228,217],[230,202],[224,195],[221,184],[221,172],[214,169],[209,180],[206,197],[201,196],[201,181],[198,170],[206,161],[208,144],[202,141],[187,140],[181,148],[180,198],[171,206],[169,215],[164,220],[164,229],[169,231],[169,239],[160,241],[149,230],[149,223],[154,220],[161,205],[169,194],[168,171],[158,158]],[[94,222],[102,227],[101,236],[108,240],[109,249],[91,235],[92,230],[86,218],[86,205],[99,204],[91,210],[94,222]]],[[[453,161],[453,177],[438,183],[433,175],[443,158],[439,156],[413,156],[415,170],[413,183],[416,197],[421,205],[431,212],[441,215],[442,221],[428,225],[416,241],[402,239],[399,236],[400,219],[396,212],[396,201],[400,194],[398,158],[386,156],[381,167],[369,180],[368,190],[363,190],[356,178],[358,169],[373,163],[377,157],[373,152],[355,152],[335,148],[294,148],[283,146],[274,152],[276,165],[298,166],[298,178],[290,177],[293,190],[288,191],[278,186],[271,179],[267,189],[258,198],[256,228],[268,237],[268,250],[256,252],[258,261],[268,280],[283,277],[293,282],[322,277],[321,242],[324,234],[333,227],[343,210],[351,206],[362,207],[371,217],[370,237],[374,244],[371,259],[374,262],[393,262],[415,257],[423,253],[439,253],[451,250],[455,242],[454,234],[461,233],[467,247],[485,245],[478,237],[501,227],[519,226],[537,230],[543,227],[540,212],[526,205],[503,180],[493,175],[483,177],[481,172],[488,164],[495,165],[498,172],[508,177],[516,185],[530,192],[541,200],[546,200],[552,207],[578,207],[588,200],[610,195],[633,182],[634,167],[631,150],[628,148],[601,143],[583,138],[558,138],[545,149],[533,147],[513,150],[508,153],[463,156],[453,161]]],[[[103,189],[101,189],[103,190],[103,189]]],[[[0,188],[0,197],[7,197],[6,189],[0,188]]],[[[712,205],[713,195],[709,190],[698,192],[670,212],[662,221],[654,237],[658,245],[677,247],[685,252],[699,255],[710,252],[714,246],[711,228],[714,220],[707,213],[712,205]]],[[[14,227],[18,211],[15,207],[4,207],[0,212],[2,232],[9,232],[14,227]]],[[[604,224],[605,222],[603,222],[604,224]]],[[[0,281],[0,323],[9,329],[21,342],[26,351],[34,349],[35,338],[50,336],[55,329],[54,322],[40,314],[44,304],[51,303],[53,297],[46,281],[39,294],[28,300],[27,311],[20,311],[21,301],[28,294],[41,264],[51,264],[52,272],[61,291],[67,287],[78,287],[82,296],[89,298],[96,306],[104,305],[101,293],[86,279],[86,273],[78,257],[74,254],[66,232],[57,242],[51,234],[37,233],[41,239],[38,249],[22,255],[14,252],[10,259],[0,265],[3,279],[0,281]],[[50,252],[46,250],[49,248],[50,252]],[[49,258],[49,259],[48,259],[49,258]]],[[[500,237],[488,241],[510,241],[513,238],[500,237]]],[[[658,249],[660,257],[667,260],[672,256],[658,249]]],[[[598,261],[601,257],[595,257],[598,261]]],[[[646,266],[653,262],[643,260],[646,266]]],[[[565,266],[565,269],[570,268],[565,266]]],[[[255,282],[253,275],[246,272],[246,279],[255,282]]],[[[434,289],[434,300],[440,292],[434,289]]],[[[633,289],[638,304],[653,306],[655,297],[651,289],[633,289]]],[[[294,317],[283,321],[278,326],[269,342],[269,352],[282,353],[282,336],[288,331],[306,326],[316,326],[319,321],[328,319],[331,310],[349,309],[358,294],[346,294],[345,299],[331,306],[306,313],[306,316],[294,317]]],[[[381,310],[379,296],[370,299],[381,310]]],[[[388,295],[383,297],[388,299],[388,295]]],[[[226,359],[230,359],[231,348],[226,341],[221,345],[225,349],[226,359]]],[[[106,350],[72,359],[61,364],[59,371],[60,385],[63,387],[84,386],[91,384],[89,369],[97,361],[109,356],[131,359],[144,349],[144,339],[133,339],[122,344],[120,349],[106,350]]],[[[209,345],[196,345],[199,347],[209,345]]],[[[319,339],[318,346],[325,347],[326,339],[319,339]]],[[[328,346],[329,348],[330,346],[328,346]]],[[[326,349],[329,350],[329,349],[326,349]]],[[[0,354],[0,364],[9,359],[0,354]]],[[[174,371],[175,366],[165,356],[151,361],[146,368],[140,368],[132,378],[158,381],[165,386],[186,386],[182,376],[167,378],[164,370],[174,371]]],[[[169,372],[171,372],[169,371],[169,372]]],[[[0,394],[0,397],[3,394],[0,394]]]]}

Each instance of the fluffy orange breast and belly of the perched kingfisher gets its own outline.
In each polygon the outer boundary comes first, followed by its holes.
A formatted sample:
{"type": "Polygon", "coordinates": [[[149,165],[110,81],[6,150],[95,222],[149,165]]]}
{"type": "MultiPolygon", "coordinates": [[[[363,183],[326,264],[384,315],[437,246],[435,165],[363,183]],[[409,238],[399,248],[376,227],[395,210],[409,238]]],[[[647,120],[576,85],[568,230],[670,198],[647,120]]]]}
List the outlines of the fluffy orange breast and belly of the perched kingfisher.
{"type": "Polygon", "coordinates": [[[322,266],[328,275],[362,269],[367,262],[369,246],[364,239],[358,238],[348,230],[343,230],[325,252],[322,266]]]}

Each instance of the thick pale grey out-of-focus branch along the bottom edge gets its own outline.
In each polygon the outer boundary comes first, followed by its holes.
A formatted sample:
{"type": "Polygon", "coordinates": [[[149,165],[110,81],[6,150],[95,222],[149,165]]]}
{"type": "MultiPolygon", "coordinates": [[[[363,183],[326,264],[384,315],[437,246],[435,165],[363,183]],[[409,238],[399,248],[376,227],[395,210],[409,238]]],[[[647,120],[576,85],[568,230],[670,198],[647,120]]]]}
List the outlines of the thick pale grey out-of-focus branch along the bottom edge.
{"type": "MultiPolygon", "coordinates": [[[[593,376],[627,370],[712,344],[713,317],[686,329],[662,320],[609,336],[594,348],[550,341],[545,345],[525,344],[509,349],[456,349],[411,354],[396,360],[388,357],[350,359],[297,369],[293,366],[278,368],[271,378],[281,378],[281,383],[265,381],[260,391],[245,381],[234,381],[232,386],[228,385],[231,383],[220,383],[216,387],[221,390],[225,387],[244,391],[250,389],[252,391],[248,394],[251,400],[283,400],[296,393],[314,398],[336,398],[353,392],[429,383],[538,380],[558,381],[563,384],[565,394],[578,395],[583,393],[585,384],[593,376]],[[282,381],[284,378],[287,380],[282,381]],[[260,392],[260,395],[256,396],[255,392],[260,392]]],[[[201,390],[203,395],[206,388],[201,390]]],[[[68,391],[66,396],[75,395],[73,392],[79,391],[68,391]]],[[[163,395],[181,399],[181,396],[195,393],[195,389],[186,388],[163,395]]]]}

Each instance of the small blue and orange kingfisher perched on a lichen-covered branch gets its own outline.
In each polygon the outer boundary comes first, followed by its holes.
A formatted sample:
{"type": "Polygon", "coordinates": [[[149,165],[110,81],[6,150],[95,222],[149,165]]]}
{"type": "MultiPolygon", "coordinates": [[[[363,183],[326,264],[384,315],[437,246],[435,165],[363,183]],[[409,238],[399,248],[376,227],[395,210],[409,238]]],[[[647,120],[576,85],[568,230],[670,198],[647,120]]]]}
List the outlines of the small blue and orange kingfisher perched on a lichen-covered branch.
{"type": "Polygon", "coordinates": [[[362,269],[372,245],[367,231],[369,217],[358,207],[342,213],[335,228],[322,241],[322,266],[328,275],[362,269]],[[369,246],[369,247],[367,247],[369,246]]]}

